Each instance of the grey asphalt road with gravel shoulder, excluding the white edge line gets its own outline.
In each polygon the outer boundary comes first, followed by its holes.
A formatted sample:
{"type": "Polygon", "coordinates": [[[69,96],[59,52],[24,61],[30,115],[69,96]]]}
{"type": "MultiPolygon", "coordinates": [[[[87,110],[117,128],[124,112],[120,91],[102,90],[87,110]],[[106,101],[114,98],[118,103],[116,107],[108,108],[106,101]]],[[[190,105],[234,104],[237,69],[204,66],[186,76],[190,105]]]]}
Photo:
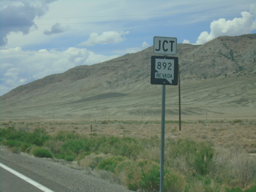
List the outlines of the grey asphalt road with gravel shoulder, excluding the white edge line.
{"type": "MultiPolygon", "coordinates": [[[[123,186],[87,175],[84,170],[69,168],[60,163],[36,158],[27,154],[15,154],[0,150],[0,163],[25,175],[54,192],[129,192],[123,186]]],[[[34,185],[10,173],[0,166],[0,192],[33,191],[41,192],[34,185]]],[[[130,191],[131,192],[131,191],[130,191]]]]}

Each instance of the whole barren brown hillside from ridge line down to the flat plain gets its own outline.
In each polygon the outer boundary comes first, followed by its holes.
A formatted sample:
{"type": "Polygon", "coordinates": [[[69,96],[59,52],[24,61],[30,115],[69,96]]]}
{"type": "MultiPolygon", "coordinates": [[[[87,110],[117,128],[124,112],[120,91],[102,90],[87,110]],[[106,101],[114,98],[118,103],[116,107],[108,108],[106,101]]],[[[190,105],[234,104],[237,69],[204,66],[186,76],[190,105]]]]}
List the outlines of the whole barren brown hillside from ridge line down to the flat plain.
{"type": "MultiPolygon", "coordinates": [[[[161,85],[150,84],[153,48],[19,86],[0,97],[1,119],[160,118],[161,85]]],[[[178,44],[183,118],[255,118],[256,34],[178,44]]],[[[178,86],[166,113],[177,119],[178,86]]]]}

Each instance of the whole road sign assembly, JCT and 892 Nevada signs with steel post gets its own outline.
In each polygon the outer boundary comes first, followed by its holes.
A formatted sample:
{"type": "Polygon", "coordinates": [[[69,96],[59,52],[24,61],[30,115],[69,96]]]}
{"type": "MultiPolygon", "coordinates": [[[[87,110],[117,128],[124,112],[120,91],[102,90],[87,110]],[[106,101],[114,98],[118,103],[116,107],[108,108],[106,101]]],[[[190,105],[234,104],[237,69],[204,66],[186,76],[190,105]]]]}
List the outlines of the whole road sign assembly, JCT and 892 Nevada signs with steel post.
{"type": "MultiPolygon", "coordinates": [[[[177,38],[154,37],[154,54],[176,55],[177,38]]],[[[165,86],[177,85],[179,81],[179,58],[151,56],[151,84],[162,85],[160,192],[164,191],[164,139],[165,139],[165,86]]]]}

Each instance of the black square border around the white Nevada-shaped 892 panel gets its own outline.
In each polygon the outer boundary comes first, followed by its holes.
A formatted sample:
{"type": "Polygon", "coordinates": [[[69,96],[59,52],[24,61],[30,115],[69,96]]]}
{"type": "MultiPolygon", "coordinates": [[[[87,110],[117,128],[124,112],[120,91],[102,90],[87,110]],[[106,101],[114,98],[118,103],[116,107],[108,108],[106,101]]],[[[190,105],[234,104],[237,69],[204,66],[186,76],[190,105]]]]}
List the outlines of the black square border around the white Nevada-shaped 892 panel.
{"type": "Polygon", "coordinates": [[[178,85],[178,78],[179,78],[179,58],[178,57],[168,57],[168,56],[151,56],[151,84],[155,85],[178,85]],[[172,84],[167,81],[166,79],[158,79],[155,78],[155,73],[157,70],[155,69],[156,59],[173,59],[174,60],[174,74],[173,74],[173,80],[172,84]]]}

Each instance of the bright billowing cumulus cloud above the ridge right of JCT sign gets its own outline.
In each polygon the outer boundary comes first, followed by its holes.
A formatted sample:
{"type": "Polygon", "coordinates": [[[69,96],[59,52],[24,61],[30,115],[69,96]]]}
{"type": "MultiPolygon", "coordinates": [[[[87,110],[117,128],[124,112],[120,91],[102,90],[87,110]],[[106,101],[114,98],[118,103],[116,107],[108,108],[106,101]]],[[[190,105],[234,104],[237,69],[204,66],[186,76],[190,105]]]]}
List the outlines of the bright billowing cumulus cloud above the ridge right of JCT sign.
{"type": "Polygon", "coordinates": [[[243,11],[241,15],[242,18],[234,18],[233,20],[221,18],[211,22],[210,33],[207,31],[202,32],[196,43],[203,44],[219,36],[236,36],[251,33],[252,30],[256,29],[256,21],[249,12],[243,11]]]}

